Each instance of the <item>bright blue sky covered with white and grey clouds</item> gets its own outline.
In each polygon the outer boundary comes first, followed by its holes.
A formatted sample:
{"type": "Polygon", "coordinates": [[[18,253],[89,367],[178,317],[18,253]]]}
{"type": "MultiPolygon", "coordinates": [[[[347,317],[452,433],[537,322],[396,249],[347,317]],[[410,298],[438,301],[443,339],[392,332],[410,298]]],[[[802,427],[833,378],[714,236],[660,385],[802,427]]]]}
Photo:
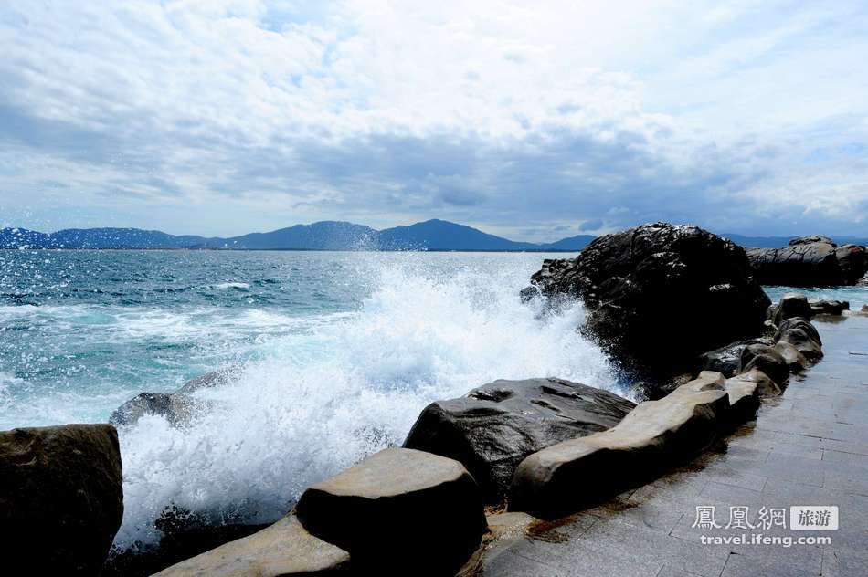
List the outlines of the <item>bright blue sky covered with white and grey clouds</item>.
{"type": "Polygon", "coordinates": [[[868,4],[0,0],[0,226],[868,236],[868,4]]]}

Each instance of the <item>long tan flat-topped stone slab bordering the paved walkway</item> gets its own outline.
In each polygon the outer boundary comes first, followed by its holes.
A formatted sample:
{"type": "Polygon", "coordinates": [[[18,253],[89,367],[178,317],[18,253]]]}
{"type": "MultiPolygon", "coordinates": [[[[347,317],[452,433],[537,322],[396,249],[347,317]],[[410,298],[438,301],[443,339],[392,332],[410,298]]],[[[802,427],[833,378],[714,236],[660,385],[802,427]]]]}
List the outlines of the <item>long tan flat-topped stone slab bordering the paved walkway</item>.
{"type": "Polygon", "coordinates": [[[528,456],[516,469],[510,510],[567,514],[640,484],[714,440],[730,410],[719,372],[701,372],[660,401],[639,404],[615,427],[528,456]]]}

